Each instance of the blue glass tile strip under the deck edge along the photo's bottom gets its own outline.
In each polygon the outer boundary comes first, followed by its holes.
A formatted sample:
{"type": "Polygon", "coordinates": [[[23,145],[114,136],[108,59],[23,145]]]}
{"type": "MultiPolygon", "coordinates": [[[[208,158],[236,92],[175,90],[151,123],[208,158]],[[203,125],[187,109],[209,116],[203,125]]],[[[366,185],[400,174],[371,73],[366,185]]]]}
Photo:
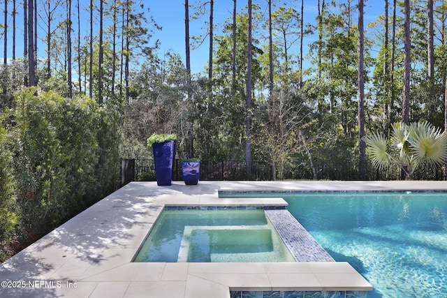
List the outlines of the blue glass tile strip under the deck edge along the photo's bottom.
{"type": "Polygon", "coordinates": [[[366,291],[230,291],[230,298],[367,298],[366,291]]]}

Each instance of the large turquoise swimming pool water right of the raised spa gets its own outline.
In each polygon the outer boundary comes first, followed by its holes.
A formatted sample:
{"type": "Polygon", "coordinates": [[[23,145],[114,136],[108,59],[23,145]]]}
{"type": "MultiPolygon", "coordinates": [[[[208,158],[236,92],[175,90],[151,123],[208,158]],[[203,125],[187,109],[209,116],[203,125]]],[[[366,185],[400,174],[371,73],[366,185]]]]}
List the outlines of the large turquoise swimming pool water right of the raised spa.
{"type": "MultiPolygon", "coordinates": [[[[240,198],[261,193],[232,193],[240,198]]],[[[447,193],[268,193],[337,261],[374,287],[368,297],[447,297],[447,193]]]]}

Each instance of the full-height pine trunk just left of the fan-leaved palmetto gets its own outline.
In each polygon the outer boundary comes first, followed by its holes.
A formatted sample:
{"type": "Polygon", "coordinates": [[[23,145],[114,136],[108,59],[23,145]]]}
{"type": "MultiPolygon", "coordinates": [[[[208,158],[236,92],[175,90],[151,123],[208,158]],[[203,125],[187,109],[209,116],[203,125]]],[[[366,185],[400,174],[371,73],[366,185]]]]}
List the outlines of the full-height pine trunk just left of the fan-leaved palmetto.
{"type": "Polygon", "coordinates": [[[365,137],[365,86],[364,86],[364,68],[363,62],[364,54],[364,31],[363,31],[363,0],[358,0],[358,138],[359,138],[359,170],[360,180],[366,179],[366,144],[363,137],[365,137]]]}

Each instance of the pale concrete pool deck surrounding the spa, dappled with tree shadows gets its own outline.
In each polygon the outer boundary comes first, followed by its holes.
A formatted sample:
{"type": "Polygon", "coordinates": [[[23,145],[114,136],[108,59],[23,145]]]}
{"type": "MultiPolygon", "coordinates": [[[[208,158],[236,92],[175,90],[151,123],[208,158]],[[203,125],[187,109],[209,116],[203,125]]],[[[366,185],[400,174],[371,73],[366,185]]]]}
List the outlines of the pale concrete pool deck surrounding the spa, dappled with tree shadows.
{"type": "MultiPolygon", "coordinates": [[[[132,182],[0,264],[0,297],[230,297],[230,290],[372,286],[346,262],[131,262],[165,205],[258,205],[219,191],[446,191],[445,181],[132,182]]],[[[262,199],[269,206],[281,199],[262,199]]]]}

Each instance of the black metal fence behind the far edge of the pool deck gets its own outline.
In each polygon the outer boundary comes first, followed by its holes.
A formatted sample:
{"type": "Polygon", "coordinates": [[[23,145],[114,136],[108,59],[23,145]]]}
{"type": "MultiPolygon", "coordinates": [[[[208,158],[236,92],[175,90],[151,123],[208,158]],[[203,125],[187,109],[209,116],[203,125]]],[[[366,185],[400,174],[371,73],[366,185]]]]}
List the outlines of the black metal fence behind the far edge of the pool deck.
{"type": "MultiPolygon", "coordinates": [[[[358,180],[360,177],[358,163],[322,163],[314,165],[317,180],[358,180]]],[[[129,181],[154,181],[155,167],[152,159],[122,159],[122,184],[129,181]]],[[[446,180],[443,167],[418,167],[414,175],[416,180],[446,180]]],[[[182,163],[175,160],[173,180],[182,180],[182,163]]],[[[309,163],[290,163],[282,179],[315,179],[309,163]]],[[[398,167],[376,170],[367,165],[367,180],[400,180],[398,167]]],[[[200,161],[200,180],[247,180],[245,161],[200,161]]],[[[272,165],[265,161],[251,162],[251,180],[273,180],[272,165]]]]}

